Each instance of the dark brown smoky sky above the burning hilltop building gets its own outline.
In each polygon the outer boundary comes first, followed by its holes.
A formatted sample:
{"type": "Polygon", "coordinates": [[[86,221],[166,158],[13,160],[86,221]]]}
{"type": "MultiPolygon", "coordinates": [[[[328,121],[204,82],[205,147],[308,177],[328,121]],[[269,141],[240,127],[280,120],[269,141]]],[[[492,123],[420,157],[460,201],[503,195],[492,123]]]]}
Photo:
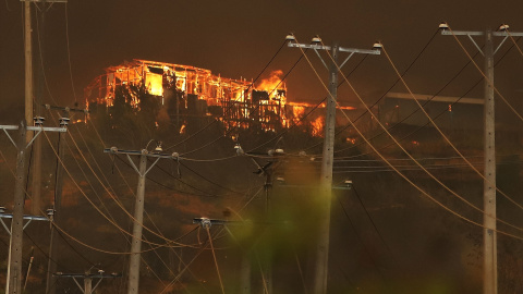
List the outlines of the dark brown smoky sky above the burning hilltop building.
{"type": "MultiPolygon", "coordinates": [[[[516,0],[70,0],[68,17],[72,75],[78,101],[82,100],[83,88],[106,66],[133,58],[194,65],[222,76],[251,79],[257,76],[289,32],[294,32],[301,42],[308,42],[319,34],[326,44],[336,39],[344,47],[369,48],[375,40],[380,40],[401,71],[428,42],[441,21],[461,30],[479,30],[487,26],[496,28],[501,23],[508,23],[513,32],[518,32],[523,30],[522,7],[523,3],[516,0]]],[[[22,24],[20,1],[5,0],[0,4],[2,107],[23,103],[22,24]]],[[[34,26],[36,32],[36,22],[34,26]]],[[[47,16],[44,42],[46,73],[52,96],[61,103],[71,105],[74,96],[65,36],[65,7],[57,3],[47,16]]],[[[474,49],[466,39],[462,41],[467,49],[474,49]]],[[[503,49],[510,45],[507,41],[503,49]]],[[[34,46],[37,52],[36,36],[34,46]]],[[[269,71],[287,72],[299,57],[297,49],[284,48],[269,71]]],[[[311,58],[326,76],[318,59],[313,54],[311,58]]],[[[355,57],[345,70],[354,66],[361,58],[355,57]]],[[[498,86],[508,86],[506,93],[510,97],[521,95],[514,89],[523,58],[513,49],[507,60],[510,62],[498,71],[496,81],[503,81],[498,86]]],[[[466,61],[466,56],[452,37],[437,36],[406,78],[414,91],[431,94],[466,61]]],[[[38,62],[39,59],[35,58],[35,68],[38,62]]],[[[442,94],[460,95],[479,77],[472,68],[463,76],[442,94]]],[[[385,57],[373,56],[354,73],[352,81],[364,99],[372,102],[396,81],[396,75],[385,57]]],[[[304,61],[289,76],[288,88],[291,99],[317,101],[325,96],[325,89],[304,61]]],[[[394,90],[404,91],[401,87],[394,90]]],[[[340,94],[342,100],[354,99],[346,89],[340,94]]],[[[473,96],[478,95],[481,91],[473,96]]],[[[50,102],[48,97],[45,99],[50,102]]]]}

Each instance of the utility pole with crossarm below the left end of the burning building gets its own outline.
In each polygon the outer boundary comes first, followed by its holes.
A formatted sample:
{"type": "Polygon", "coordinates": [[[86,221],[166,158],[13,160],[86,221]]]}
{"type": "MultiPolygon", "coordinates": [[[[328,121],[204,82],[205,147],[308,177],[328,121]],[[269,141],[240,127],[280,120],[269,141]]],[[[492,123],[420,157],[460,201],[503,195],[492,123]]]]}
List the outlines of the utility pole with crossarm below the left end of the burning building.
{"type": "MultiPolygon", "coordinates": [[[[150,142],[149,142],[150,143],[150,142]]],[[[120,150],[117,147],[104,149],[106,154],[112,155],[125,155],[129,162],[133,167],[134,171],[138,173],[138,187],[136,191],[136,201],[134,205],[134,222],[133,222],[133,240],[131,242],[131,256],[129,260],[129,285],[127,294],[138,293],[139,282],[139,259],[142,250],[142,230],[144,223],[144,200],[145,200],[145,179],[147,173],[156,166],[161,158],[179,159],[179,155],[173,152],[172,155],[160,154],[162,151],[160,144],[158,143],[156,149],[149,152],[147,149],[139,151],[120,150]],[[136,167],[131,156],[139,156],[139,164],[136,167]],[[156,160],[147,169],[147,157],[156,158],[156,160]]]]}

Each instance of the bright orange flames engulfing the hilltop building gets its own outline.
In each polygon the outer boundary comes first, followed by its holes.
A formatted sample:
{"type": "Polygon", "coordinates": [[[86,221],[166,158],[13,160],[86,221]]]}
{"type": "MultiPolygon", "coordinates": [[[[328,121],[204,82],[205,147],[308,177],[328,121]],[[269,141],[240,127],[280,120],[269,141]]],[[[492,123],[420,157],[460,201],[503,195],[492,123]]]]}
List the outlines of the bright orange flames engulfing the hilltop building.
{"type": "MultiPolygon", "coordinates": [[[[259,125],[262,130],[277,132],[301,123],[301,119],[314,108],[325,108],[325,103],[288,102],[282,76],[282,71],[272,71],[269,77],[253,87],[252,82],[244,78],[226,78],[209,70],[133,60],[106,69],[106,74],[93,81],[84,94],[88,102],[111,107],[119,86],[144,85],[149,95],[161,99],[161,106],[170,106],[173,113],[167,114],[178,122],[192,117],[215,117],[227,127],[259,125]]],[[[139,110],[138,97],[131,97],[126,102],[139,110]]],[[[303,123],[311,124],[313,135],[320,136],[324,119],[316,117],[303,123]]],[[[180,132],[184,131],[181,127],[180,132]]]]}

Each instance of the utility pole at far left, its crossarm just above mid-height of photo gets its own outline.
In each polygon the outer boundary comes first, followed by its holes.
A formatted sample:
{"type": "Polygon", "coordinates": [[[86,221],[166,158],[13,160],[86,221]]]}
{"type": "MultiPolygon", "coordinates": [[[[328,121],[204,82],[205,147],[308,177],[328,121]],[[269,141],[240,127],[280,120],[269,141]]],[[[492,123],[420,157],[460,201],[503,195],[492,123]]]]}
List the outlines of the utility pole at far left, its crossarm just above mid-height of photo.
{"type": "Polygon", "coordinates": [[[7,291],[8,294],[22,293],[22,241],[24,231],[24,204],[25,204],[25,152],[27,148],[33,144],[35,138],[44,131],[47,132],[66,132],[63,127],[44,127],[42,120],[35,119],[35,126],[26,126],[26,123],[22,121],[20,125],[0,125],[5,135],[8,135],[11,143],[17,149],[16,156],[16,183],[14,192],[14,207],[11,222],[11,241],[9,245],[9,266],[8,266],[8,281],[7,291]],[[8,130],[17,130],[19,137],[15,143],[8,130]],[[37,131],[35,136],[26,143],[27,131],[37,131]]]}

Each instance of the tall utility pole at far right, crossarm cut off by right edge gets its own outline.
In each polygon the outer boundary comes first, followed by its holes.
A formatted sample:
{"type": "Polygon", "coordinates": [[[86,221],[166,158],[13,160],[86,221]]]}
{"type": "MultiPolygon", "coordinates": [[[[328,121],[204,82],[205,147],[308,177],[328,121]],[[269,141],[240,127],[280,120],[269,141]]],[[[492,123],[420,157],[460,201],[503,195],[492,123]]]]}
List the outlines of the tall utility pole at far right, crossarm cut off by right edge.
{"type": "Polygon", "coordinates": [[[496,234],[496,127],[495,127],[495,99],[494,99],[494,56],[504,44],[509,36],[522,37],[523,33],[508,33],[509,26],[501,25],[497,32],[487,28],[485,32],[464,32],[450,30],[448,24],[439,25],[441,35],[448,36],[467,36],[474,46],[485,58],[485,103],[484,103],[484,188],[483,205],[485,215],[483,224],[485,226],[483,233],[483,293],[498,293],[498,250],[496,234]],[[485,48],[476,44],[473,36],[485,37],[485,48]],[[494,49],[494,37],[504,37],[503,40],[494,49]]]}

